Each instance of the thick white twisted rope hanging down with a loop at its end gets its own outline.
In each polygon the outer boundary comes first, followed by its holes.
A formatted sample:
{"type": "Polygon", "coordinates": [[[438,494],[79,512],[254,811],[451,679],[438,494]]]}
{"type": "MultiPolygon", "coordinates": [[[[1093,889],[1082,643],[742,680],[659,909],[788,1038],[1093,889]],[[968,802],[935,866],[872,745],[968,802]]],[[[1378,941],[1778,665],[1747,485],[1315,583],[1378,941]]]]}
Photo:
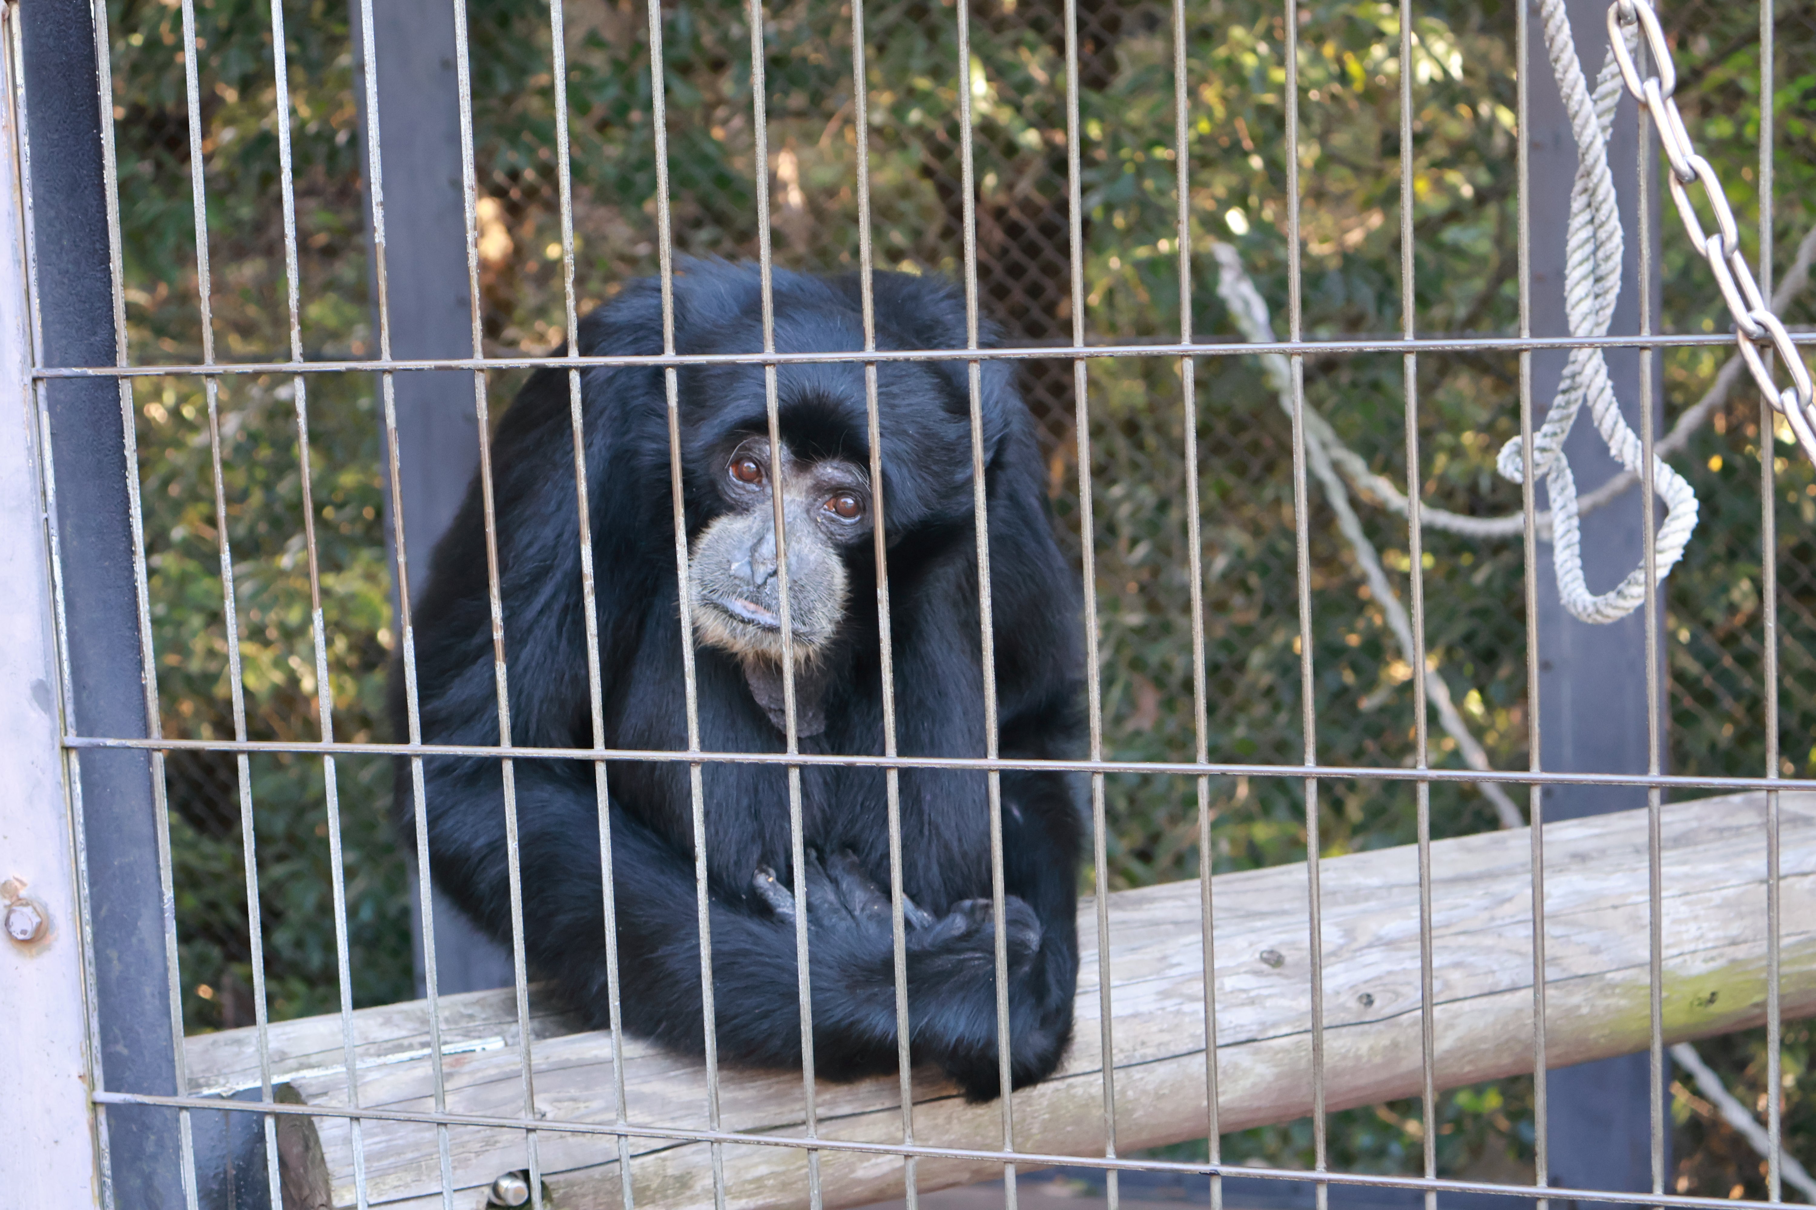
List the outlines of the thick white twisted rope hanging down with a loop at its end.
{"type": "MultiPolygon", "coordinates": [[[[1564,308],[1571,336],[1607,336],[1614,301],[1620,298],[1620,261],[1624,250],[1620,212],[1614,201],[1614,178],[1607,167],[1607,132],[1614,122],[1624,82],[1609,45],[1596,78],[1594,94],[1584,80],[1576,44],[1571,38],[1569,13],[1564,0],[1540,0],[1540,18],[1545,33],[1545,51],[1551,73],[1558,82],[1564,109],[1576,136],[1576,181],[1571,189],[1571,218],[1565,236],[1564,308]]],[[[1629,49],[1638,45],[1638,31],[1624,27],[1629,49]]],[[[1533,434],[1533,470],[1545,475],[1551,499],[1551,561],[1558,577],[1558,597],[1564,608],[1585,622],[1614,622],[1633,613],[1645,600],[1645,564],[1605,593],[1591,593],[1584,579],[1582,526],[1576,501],[1576,475],[1571,473],[1564,441],[1576,423],[1576,412],[1589,405],[1589,417],[1607,443],[1609,454],[1636,472],[1643,457],[1638,434],[1620,414],[1614,385],[1607,376],[1602,348],[1574,348],[1558,383],[1558,394],[1545,412],[1545,423],[1533,434]]],[[[1515,483],[1524,475],[1520,441],[1513,439],[1500,450],[1496,468],[1515,483]]],[[[1696,493],[1663,459],[1653,457],[1653,486],[1665,503],[1665,519],[1656,535],[1656,571],[1663,581],[1683,557],[1683,544],[1696,528],[1696,493]]]]}

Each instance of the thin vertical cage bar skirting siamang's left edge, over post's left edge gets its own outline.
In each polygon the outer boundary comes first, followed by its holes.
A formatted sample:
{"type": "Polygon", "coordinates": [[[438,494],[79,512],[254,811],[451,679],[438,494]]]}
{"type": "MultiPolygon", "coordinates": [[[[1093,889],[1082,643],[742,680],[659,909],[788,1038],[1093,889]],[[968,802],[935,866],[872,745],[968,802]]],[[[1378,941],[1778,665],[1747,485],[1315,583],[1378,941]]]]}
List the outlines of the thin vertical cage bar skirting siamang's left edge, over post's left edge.
{"type": "MultiPolygon", "coordinates": [[[[365,154],[367,154],[367,196],[372,230],[372,290],[378,312],[378,356],[390,359],[390,279],[385,263],[385,165],[383,165],[383,123],[378,105],[378,71],[372,40],[372,0],[356,0],[356,16],[361,45],[365,47],[365,154]]],[[[461,13],[461,5],[456,5],[461,13]]],[[[467,58],[458,56],[461,63],[467,58]]],[[[416,678],[416,626],[410,606],[410,550],[405,530],[403,495],[403,455],[398,441],[398,392],[390,370],[380,374],[380,394],[383,401],[385,424],[385,472],[390,486],[390,542],[396,559],[398,588],[398,637],[403,651],[403,709],[405,727],[410,744],[423,742],[421,695],[416,678]]],[[[441,994],[439,994],[439,951],[436,949],[434,887],[429,876],[429,796],[423,778],[423,758],[410,756],[410,804],[416,825],[416,903],[423,923],[423,980],[429,1000],[429,1052],[434,1083],[436,1112],[447,1112],[447,1074],[441,1056],[441,994]]],[[[436,1128],[436,1147],[441,1159],[441,1199],[449,1210],[452,1203],[452,1161],[449,1156],[447,1128],[436,1128]]]]}

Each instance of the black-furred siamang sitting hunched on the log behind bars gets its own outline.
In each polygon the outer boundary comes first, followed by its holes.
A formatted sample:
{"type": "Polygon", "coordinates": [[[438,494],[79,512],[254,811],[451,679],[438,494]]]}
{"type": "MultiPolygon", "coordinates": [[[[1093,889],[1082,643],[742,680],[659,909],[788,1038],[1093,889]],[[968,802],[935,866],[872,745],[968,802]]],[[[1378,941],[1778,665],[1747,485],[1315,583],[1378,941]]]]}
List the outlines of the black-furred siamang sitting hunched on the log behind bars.
{"type": "MultiPolygon", "coordinates": [[[[681,354],[761,350],[752,267],[688,263],[676,278],[681,354]]],[[[775,274],[781,352],[863,348],[855,278],[775,274]]],[[[594,356],[659,354],[656,281],[632,281],[579,325],[594,356]]],[[[875,278],[877,345],[962,348],[964,307],[932,278],[875,278]]],[[[988,334],[995,339],[995,334],[988,334]]],[[[1053,541],[1044,473],[1012,370],[982,363],[982,439],[1002,753],[1068,756],[1079,733],[1077,582],[1053,541]]],[[[583,376],[605,744],[688,746],[663,370],[583,376]]],[[[895,727],[906,756],[984,755],[984,684],[972,506],[968,366],[899,361],[877,370],[883,492],[870,483],[859,363],[777,370],[772,457],[757,365],[679,372],[688,595],[705,751],[783,751],[781,626],[772,473],[779,472],[801,749],[881,755],[883,689],[872,515],[888,550],[895,727]]],[[[450,405],[452,406],[452,405],[450,405]]],[[[572,479],[568,376],[539,370],[492,439],[498,575],[512,742],[588,747],[585,608],[572,479]]],[[[479,483],[434,551],[416,613],[421,733],[496,744],[492,619],[479,483]]],[[[392,678],[401,735],[405,684],[392,678]]],[[[423,762],[436,882],[479,925],[510,938],[501,764],[423,762]]],[[[405,769],[400,767],[400,775],[405,769]]],[[[703,1009],[688,766],[608,767],[623,1020],[699,1052],[703,1009]]],[[[530,963],[594,1025],[607,1021],[594,767],[514,762],[530,963]]],[[[801,1063],[788,782],[777,766],[706,764],[705,818],[719,1054],[801,1063]]],[[[895,1065],[884,775],[801,771],[817,1070],[855,1078],[895,1065]]],[[[409,827],[410,778],[398,778],[409,827]]],[[[979,771],[903,769],[903,885],[915,1061],[972,1099],[999,1092],[990,820],[979,771]]],[[[1073,912],[1081,845],[1075,778],[1002,775],[1002,849],[1013,1083],[1051,1074],[1071,1034],[1073,912]]]]}

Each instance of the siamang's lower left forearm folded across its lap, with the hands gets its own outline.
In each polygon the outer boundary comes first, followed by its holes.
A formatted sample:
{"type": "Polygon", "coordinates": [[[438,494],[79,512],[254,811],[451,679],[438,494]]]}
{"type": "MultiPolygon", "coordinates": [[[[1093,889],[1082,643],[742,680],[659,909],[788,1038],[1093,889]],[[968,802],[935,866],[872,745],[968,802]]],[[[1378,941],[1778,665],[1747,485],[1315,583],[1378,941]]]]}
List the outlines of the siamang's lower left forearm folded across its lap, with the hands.
{"type": "MultiPolygon", "coordinates": [[[[436,882],[492,936],[510,938],[510,878],[499,762],[429,758],[430,862],[436,882]]],[[[608,1023],[603,885],[592,773],[583,764],[514,764],[525,951],[594,1027],[608,1023]]],[[[623,1025],[699,1054],[699,912],[694,862],[616,805],[612,882],[623,1025]]],[[[1021,845],[1017,845],[1021,849],[1021,845]]],[[[1026,856],[1035,858],[1033,853],[1026,856]]],[[[719,1056],[799,1067],[794,896],[708,894],[719,1056]],[[777,903],[781,902],[781,911],[777,903]]],[[[817,1069],[850,1079],[893,1069],[895,978],[890,907],[843,854],[810,856],[808,952],[817,1069]]],[[[995,934],[990,900],[908,929],[908,1016],[917,1061],[946,1070],[972,1099],[997,1094],[995,934]]],[[[1070,923],[1070,922],[1068,922],[1070,923]]],[[[1048,931],[1021,896],[1008,900],[1013,1081],[1046,1076],[1071,1023],[1070,929],[1048,931]],[[1055,990],[1064,990],[1055,1003],[1055,990]]]]}

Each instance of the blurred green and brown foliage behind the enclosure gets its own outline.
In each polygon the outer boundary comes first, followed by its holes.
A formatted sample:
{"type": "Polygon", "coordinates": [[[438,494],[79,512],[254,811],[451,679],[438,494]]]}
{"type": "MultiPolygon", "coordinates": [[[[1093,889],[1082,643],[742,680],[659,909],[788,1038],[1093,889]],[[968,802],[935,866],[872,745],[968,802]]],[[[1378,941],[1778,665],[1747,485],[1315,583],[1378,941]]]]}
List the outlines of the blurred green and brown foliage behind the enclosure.
{"type": "MultiPolygon", "coordinates": [[[[1415,296],[1420,328],[1516,328],[1515,7],[1505,0],[1415,5],[1415,296]]],[[[952,0],[879,0],[870,31],[870,127],[854,125],[850,7],[781,0],[765,15],[770,181],[777,261],[850,270],[857,263],[855,147],[872,163],[881,267],[962,270],[957,89],[972,91],[977,132],[979,274],[986,305],[1033,343],[1071,330],[1064,25],[1059,0],[981,0],[972,60],[957,62],[952,0]]],[[[191,171],[205,171],[216,339],[227,359],[289,356],[283,223],[269,9],[252,0],[196,5],[202,163],[191,163],[182,13],[174,0],[111,0],[116,132],[134,361],[196,361],[198,278],[191,171]]],[[[545,354],[563,332],[559,198],[548,13],[528,0],[470,0],[479,256],[490,352],[545,354]]],[[[645,11],[632,0],[567,5],[581,307],[656,268],[656,163],[645,11]]],[[[676,241],[696,256],[755,250],[748,11],[734,0],[665,7],[665,87],[676,241]]],[[[1173,339],[1180,294],[1175,247],[1171,11],[1155,0],[1081,0],[1084,319],[1090,339],[1173,339]]],[[[1309,336],[1398,330],[1398,13],[1378,0],[1298,7],[1304,307],[1309,336]]],[[[1758,15],[1694,0],[1667,13],[1678,100],[1740,214],[1756,212],[1758,15]]],[[[311,357],[372,356],[365,198],[347,9],[287,0],[301,332],[311,357]]],[[[1233,241],[1284,314],[1284,27],[1260,0],[1188,0],[1188,100],[1195,270],[1193,330],[1231,339],[1215,296],[1209,241],[1233,241]]],[[[1780,270],[1809,229],[1816,198],[1816,5],[1778,4],[1780,270]]],[[[1593,69],[1593,65],[1591,65],[1593,69]]],[[[1752,225],[1743,223],[1749,258],[1752,225]]],[[[1720,294],[1676,223],[1663,223],[1667,330],[1725,328],[1720,294]]],[[[1800,299],[1789,321],[1807,323],[1800,299]]],[[[1665,357],[1667,417],[1700,397],[1723,350],[1665,357]]],[[[1050,459],[1055,524],[1077,555],[1077,401],[1064,361],[1028,361],[1022,386],[1050,459]]],[[[521,374],[494,374],[508,397],[521,374]]],[[[1204,508],[1209,751],[1213,758],[1295,762],[1298,731],[1291,441],[1251,357],[1197,363],[1200,464],[1182,463],[1179,366],[1168,359],[1090,363],[1088,414],[1102,624],[1106,746],[1119,758],[1189,758],[1191,660],[1184,475],[1204,508]]],[[[383,668],[394,646],[381,537],[380,421],[372,376],[312,376],[307,423],[336,737],[385,737],[383,668]]],[[[1306,365],[1309,406],[1371,464],[1404,479],[1398,356],[1329,356],[1306,365]]],[[[231,737],[218,533],[202,385],[136,379],[140,472],[163,722],[171,735],[231,737]]],[[[1424,499],[1478,515],[1518,508],[1493,455],[1518,430],[1516,363],[1498,354],[1420,357],[1424,499]]],[[[470,401],[450,399],[450,406],[470,401]]],[[[254,738],[316,738],[316,664],[303,546],[296,399],[287,377],[222,385],[229,537],[240,602],[243,684],[254,738]]],[[[1678,459],[1702,497],[1702,526],[1667,586],[1671,767],[1754,775],[1765,760],[1760,649],[1760,459],[1780,470],[1778,570],[1783,686],[1816,684],[1816,481],[1792,446],[1760,430],[1742,390],[1678,459]]],[[[1633,497],[1629,497],[1633,499],[1633,497]]],[[[1313,497],[1313,608],[1318,747],[1331,762],[1411,764],[1413,669],[1378,602],[1313,497]]],[[[1389,573],[1411,570],[1404,524],[1367,510],[1389,573]]],[[[1496,766],[1525,762],[1524,597],[1518,541],[1426,539],[1427,644],[1471,729],[1496,766]]],[[[1781,698],[1783,771],[1816,767],[1816,698],[1781,698]]],[[[1435,733],[1436,735],[1436,733],[1435,733]]],[[[1435,760],[1460,766],[1455,742],[1435,760]]],[[[338,760],[354,1000],[410,990],[409,885],[392,845],[389,767],[338,760]]],[[[232,758],[173,756],[178,929],[191,1029],[251,1021],[247,911],[232,758]]],[[[271,1012],[338,1005],[323,767],[258,756],[260,894],[271,1012]]],[[[1215,869],[1304,858],[1291,780],[1215,778],[1215,869]]],[[[1406,844],[1413,795],[1400,784],[1329,784],[1324,853],[1406,844]]],[[[1111,878],[1119,887],[1195,876],[1195,796],[1188,780],[1110,778],[1111,878]]],[[[1433,787],[1438,834],[1495,827],[1462,784],[1433,787]]],[[[1809,1156],[1816,1105],[1798,1079],[1805,1025],[1785,1030],[1787,1143],[1809,1156]]],[[[1747,1105],[1762,1108],[1763,1034],[1705,1045],[1747,1105]]],[[[1763,1112],[1763,1110],[1762,1110],[1763,1112]]],[[[1416,1170],[1426,1125],[1416,1103],[1351,1110],[1333,1121],[1333,1165],[1416,1170]]],[[[1676,1188],[1762,1195],[1762,1163],[1705,1101],[1674,1088],[1676,1188]]],[[[1440,1103],[1447,1174],[1531,1172],[1531,1081],[1447,1094],[1440,1103]]],[[[1226,1156],[1309,1163],[1306,1123],[1253,1130],[1226,1156]]],[[[1189,1148],[1188,1148],[1189,1150],[1189,1148]]]]}

